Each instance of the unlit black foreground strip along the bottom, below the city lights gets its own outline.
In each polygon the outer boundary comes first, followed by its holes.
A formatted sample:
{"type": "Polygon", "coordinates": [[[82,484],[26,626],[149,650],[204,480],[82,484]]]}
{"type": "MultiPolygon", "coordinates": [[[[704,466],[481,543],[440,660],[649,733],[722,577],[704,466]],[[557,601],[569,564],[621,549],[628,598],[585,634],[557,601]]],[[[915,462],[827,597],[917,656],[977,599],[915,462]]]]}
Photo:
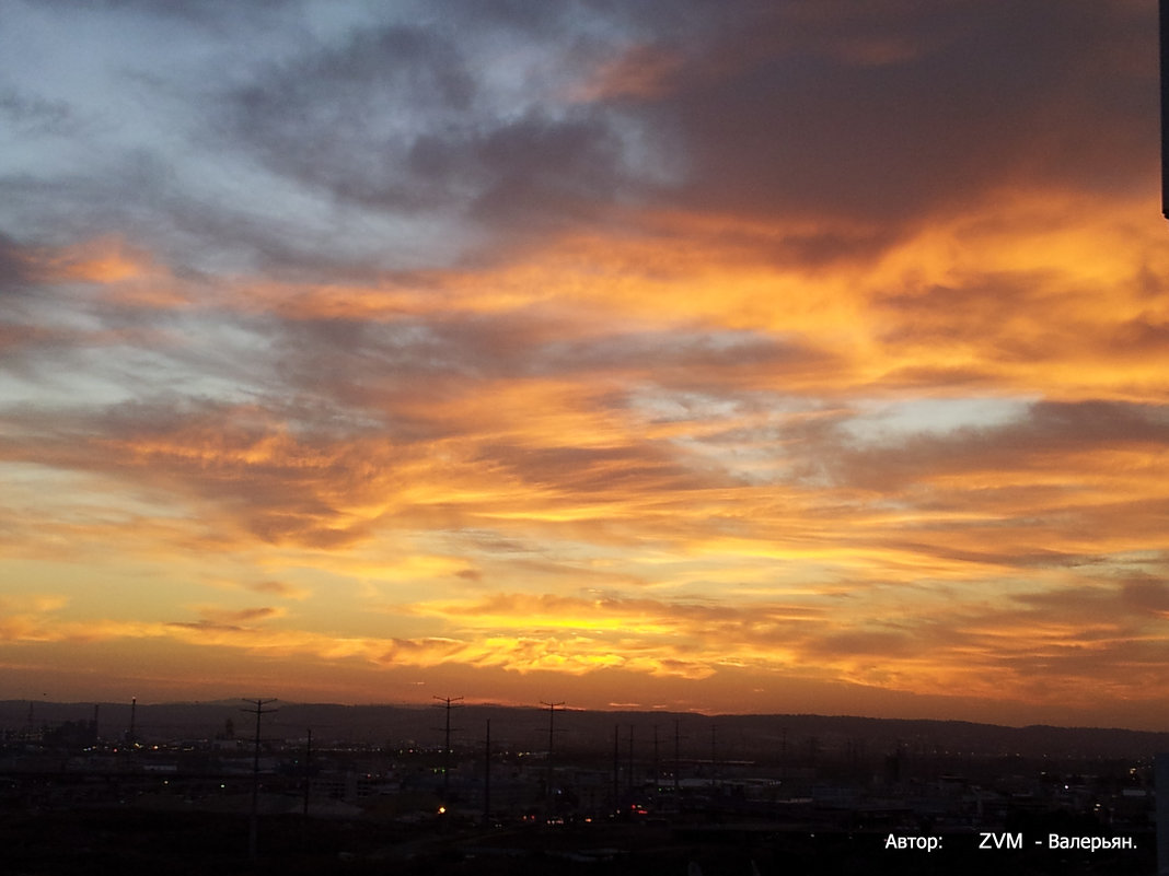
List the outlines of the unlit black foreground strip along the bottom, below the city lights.
{"type": "Polygon", "coordinates": [[[1022,830],[1022,849],[980,849],[970,833],[947,834],[935,851],[886,848],[879,832],[784,829],[760,823],[589,822],[457,826],[435,821],[261,820],[255,861],[248,823],[237,814],[136,808],[6,812],[0,872],[9,876],[422,876],[475,874],[637,874],[650,876],[798,876],[802,874],[987,874],[1151,876],[1155,837],[1132,850],[1066,851],[1046,847],[1050,825],[1022,830]],[[1043,844],[1038,844],[1043,842],[1043,844]],[[698,870],[694,869],[697,865],[698,870]]]}

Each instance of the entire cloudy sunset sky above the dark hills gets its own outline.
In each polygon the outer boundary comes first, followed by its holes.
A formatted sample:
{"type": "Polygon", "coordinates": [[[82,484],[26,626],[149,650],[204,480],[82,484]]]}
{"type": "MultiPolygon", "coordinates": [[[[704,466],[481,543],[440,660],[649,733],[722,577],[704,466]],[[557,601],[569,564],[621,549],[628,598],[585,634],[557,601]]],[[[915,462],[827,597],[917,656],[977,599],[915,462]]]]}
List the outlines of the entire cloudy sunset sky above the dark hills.
{"type": "Polygon", "coordinates": [[[1153,0],[0,0],[0,698],[1169,725],[1153,0]]]}

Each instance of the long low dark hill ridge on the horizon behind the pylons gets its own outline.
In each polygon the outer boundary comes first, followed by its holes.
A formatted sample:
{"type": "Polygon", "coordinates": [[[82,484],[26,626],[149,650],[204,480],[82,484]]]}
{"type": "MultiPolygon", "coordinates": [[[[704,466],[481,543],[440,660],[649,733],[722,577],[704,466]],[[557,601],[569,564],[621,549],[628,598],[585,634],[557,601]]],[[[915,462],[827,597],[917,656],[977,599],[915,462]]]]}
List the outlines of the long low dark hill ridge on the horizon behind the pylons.
{"type": "MultiPolygon", "coordinates": [[[[134,728],[151,742],[210,739],[234,731],[250,739],[254,717],[244,700],[193,703],[139,703],[134,728]]],[[[320,744],[354,746],[442,745],[442,708],[428,705],[340,705],[331,703],[275,702],[277,709],[263,719],[265,739],[303,739],[311,729],[320,744]]],[[[548,711],[538,708],[466,705],[451,712],[452,745],[477,749],[491,719],[492,746],[497,750],[544,751],[548,744],[548,711]]],[[[58,726],[67,721],[92,721],[94,703],[32,704],[35,728],[58,726]]],[[[130,730],[130,703],[99,703],[98,732],[123,738],[130,730]]],[[[0,701],[0,730],[19,731],[29,724],[27,700],[0,701]]],[[[673,756],[675,734],[684,758],[720,760],[773,759],[786,752],[793,758],[812,750],[862,750],[867,756],[898,750],[919,755],[1012,756],[1057,758],[1146,758],[1169,751],[1169,734],[1105,728],[1010,728],[961,721],[914,721],[824,715],[698,715],[664,711],[558,710],[554,746],[558,751],[600,753],[613,750],[616,730],[622,751],[634,744],[646,756],[655,744],[663,758],[673,756]]]]}

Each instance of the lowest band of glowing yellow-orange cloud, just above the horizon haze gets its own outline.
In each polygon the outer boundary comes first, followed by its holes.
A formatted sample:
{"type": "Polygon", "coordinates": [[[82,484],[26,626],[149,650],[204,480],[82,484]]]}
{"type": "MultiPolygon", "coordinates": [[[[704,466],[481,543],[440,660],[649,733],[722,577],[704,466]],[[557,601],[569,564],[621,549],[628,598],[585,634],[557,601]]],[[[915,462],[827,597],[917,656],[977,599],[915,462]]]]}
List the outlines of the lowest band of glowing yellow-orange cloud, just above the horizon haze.
{"type": "Polygon", "coordinates": [[[954,599],[938,588],[916,598],[899,588],[845,610],[838,597],[787,604],[712,605],[657,599],[497,595],[462,603],[400,606],[397,618],[445,621],[449,634],[352,637],[283,626],[272,609],[203,610],[194,623],[76,621],[60,603],[7,613],[7,642],[84,645],[173,640],[298,661],[358,660],[372,666],[466,666],[512,673],[707,679],[724,668],[760,680],[805,679],[987,700],[1087,708],[1093,697],[1139,698],[1167,680],[1156,633],[1164,588],[1137,580],[1114,589],[999,591],[954,599]],[[881,606],[881,603],[885,603],[881,606]],[[878,607],[880,606],[880,607],[878,607]],[[878,619],[880,618],[880,619],[878,619]],[[255,621],[265,621],[262,626],[255,621]]]}

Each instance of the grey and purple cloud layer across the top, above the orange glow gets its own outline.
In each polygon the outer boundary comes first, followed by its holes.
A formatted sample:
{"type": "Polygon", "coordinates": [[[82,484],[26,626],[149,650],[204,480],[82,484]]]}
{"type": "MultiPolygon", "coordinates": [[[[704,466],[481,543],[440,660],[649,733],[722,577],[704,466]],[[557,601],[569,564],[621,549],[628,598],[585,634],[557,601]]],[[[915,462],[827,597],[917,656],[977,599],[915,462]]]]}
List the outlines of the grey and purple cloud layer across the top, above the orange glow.
{"type": "Polygon", "coordinates": [[[153,28],[184,63],[111,60],[127,100],[104,128],[101,107],[0,91],[0,114],[91,157],[0,176],[9,213],[192,269],[443,265],[653,207],[829,220],[742,241],[826,263],[1004,187],[1130,190],[1155,169],[1141,4],[56,8],[153,28]],[[646,56],[672,58],[653,88],[607,90],[646,56]]]}

